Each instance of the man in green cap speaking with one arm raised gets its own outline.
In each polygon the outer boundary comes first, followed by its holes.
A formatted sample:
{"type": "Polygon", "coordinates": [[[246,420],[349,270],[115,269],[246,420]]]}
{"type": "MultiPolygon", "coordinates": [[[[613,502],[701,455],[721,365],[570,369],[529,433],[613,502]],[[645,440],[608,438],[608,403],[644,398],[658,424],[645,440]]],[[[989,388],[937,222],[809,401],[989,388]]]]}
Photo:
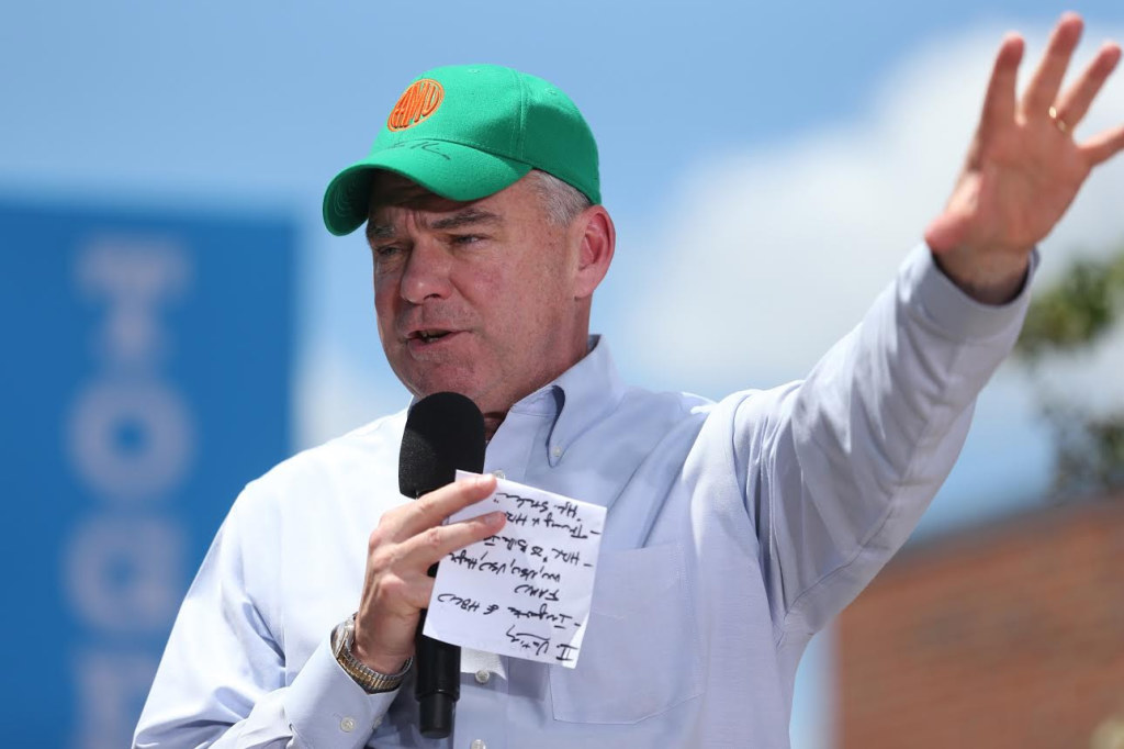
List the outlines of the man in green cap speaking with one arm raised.
{"type": "Polygon", "coordinates": [[[454,736],[420,737],[426,570],[505,518],[442,525],[491,476],[398,495],[404,413],[246,487],[136,746],[788,746],[805,646],[907,538],[1017,335],[1034,245],[1124,147],[1071,137],[1121,54],[1060,91],[1080,28],[1062,18],[1017,99],[1004,40],[949,205],[861,325],[804,382],[717,404],[625,387],[589,337],[615,235],[569,99],[487,65],[420,76],[325,220],[366,222],[387,358],[415,396],[480,407],[486,470],[608,508],[581,660],[465,651],[454,736]]]}

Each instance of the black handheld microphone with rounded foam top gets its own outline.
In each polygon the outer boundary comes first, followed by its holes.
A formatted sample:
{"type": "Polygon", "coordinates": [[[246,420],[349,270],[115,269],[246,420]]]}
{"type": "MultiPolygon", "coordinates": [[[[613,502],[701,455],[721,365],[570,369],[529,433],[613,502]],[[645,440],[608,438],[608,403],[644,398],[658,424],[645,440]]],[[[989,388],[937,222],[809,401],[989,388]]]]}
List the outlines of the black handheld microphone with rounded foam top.
{"type": "MultiPolygon", "coordinates": [[[[470,399],[456,392],[422,398],[406,417],[398,453],[398,490],[417,499],[452,484],[456,469],[484,470],[484,417],[470,399]]],[[[429,577],[437,565],[429,568],[429,577]]],[[[418,701],[422,736],[444,739],[453,732],[453,713],[461,697],[461,649],[422,634],[422,610],[415,640],[414,696],[418,701]]]]}

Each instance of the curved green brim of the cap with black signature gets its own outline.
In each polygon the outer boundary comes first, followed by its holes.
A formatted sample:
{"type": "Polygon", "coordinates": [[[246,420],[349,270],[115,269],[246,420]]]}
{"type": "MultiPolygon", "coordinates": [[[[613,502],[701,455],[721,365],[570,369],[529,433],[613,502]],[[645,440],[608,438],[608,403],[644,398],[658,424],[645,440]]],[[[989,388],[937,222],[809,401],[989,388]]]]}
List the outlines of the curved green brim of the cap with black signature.
{"type": "Polygon", "coordinates": [[[450,200],[479,200],[514,184],[531,165],[447,141],[384,148],[336,174],[324,193],[324,225],[336,236],[366,220],[378,170],[401,174],[450,200]]]}

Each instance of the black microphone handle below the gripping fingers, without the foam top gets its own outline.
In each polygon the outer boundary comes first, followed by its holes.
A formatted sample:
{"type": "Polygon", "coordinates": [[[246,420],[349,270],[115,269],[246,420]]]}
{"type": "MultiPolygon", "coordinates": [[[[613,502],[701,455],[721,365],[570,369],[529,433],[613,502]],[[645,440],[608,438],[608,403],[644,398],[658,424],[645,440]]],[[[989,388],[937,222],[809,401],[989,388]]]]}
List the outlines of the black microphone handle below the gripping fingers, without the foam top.
{"type": "MultiPolygon", "coordinates": [[[[437,575],[437,565],[429,568],[429,577],[437,575]]],[[[418,701],[418,723],[427,739],[445,739],[453,732],[453,715],[461,697],[461,648],[422,634],[426,610],[418,619],[415,639],[414,696],[418,701]]]]}

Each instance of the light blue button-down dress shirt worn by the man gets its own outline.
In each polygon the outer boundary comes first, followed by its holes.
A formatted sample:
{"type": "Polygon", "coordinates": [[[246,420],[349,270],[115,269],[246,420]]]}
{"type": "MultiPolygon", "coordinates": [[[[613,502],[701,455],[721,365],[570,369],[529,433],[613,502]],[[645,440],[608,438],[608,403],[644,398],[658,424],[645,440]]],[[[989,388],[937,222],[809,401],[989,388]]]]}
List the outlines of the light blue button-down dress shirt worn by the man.
{"type": "Polygon", "coordinates": [[[486,469],[608,508],[592,613],[572,670],[468,652],[446,741],[418,734],[410,682],[366,695],[328,648],[406,502],[405,413],[287,460],[219,530],[135,746],[788,747],[805,646],[913,530],[1025,297],[976,304],[918,247],[803,382],[649,392],[598,342],[516,404],[486,469]]]}

